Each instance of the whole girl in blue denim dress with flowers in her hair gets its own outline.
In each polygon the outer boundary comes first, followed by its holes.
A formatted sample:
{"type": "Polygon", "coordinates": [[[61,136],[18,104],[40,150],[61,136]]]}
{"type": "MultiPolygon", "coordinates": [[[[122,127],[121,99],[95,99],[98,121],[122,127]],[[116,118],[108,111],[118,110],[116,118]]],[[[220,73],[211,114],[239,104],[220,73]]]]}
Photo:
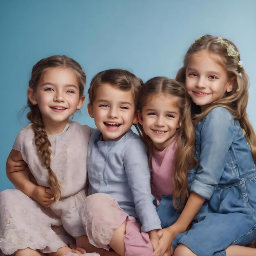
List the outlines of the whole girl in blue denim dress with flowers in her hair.
{"type": "Polygon", "coordinates": [[[246,113],[248,76],[238,50],[229,40],[201,36],[176,79],[193,101],[199,164],[188,173],[184,209],[175,212],[171,196],[157,207],[166,227],[158,232],[159,244],[167,248],[172,242],[173,256],[256,255],[256,249],[240,246],[256,236],[256,136],[246,113]]]}

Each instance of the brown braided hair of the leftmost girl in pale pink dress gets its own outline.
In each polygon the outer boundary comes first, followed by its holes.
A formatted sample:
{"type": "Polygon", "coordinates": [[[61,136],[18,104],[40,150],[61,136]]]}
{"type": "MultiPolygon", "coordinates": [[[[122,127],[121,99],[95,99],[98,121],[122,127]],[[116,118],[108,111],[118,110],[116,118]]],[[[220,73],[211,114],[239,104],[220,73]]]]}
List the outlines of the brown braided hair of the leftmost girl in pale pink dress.
{"type": "MultiPolygon", "coordinates": [[[[46,69],[50,67],[63,67],[72,69],[77,76],[77,81],[79,84],[79,95],[80,97],[83,95],[86,80],[85,73],[83,72],[83,69],[79,63],[67,56],[54,55],[38,61],[32,69],[31,79],[29,80],[29,88],[31,88],[33,91],[36,91],[40,79],[42,78],[46,69]]],[[[48,182],[54,193],[54,199],[55,201],[58,201],[61,197],[61,184],[51,168],[51,143],[48,139],[47,133],[45,132],[45,126],[43,124],[42,115],[38,105],[33,105],[29,98],[27,99],[27,104],[31,110],[27,113],[27,118],[32,123],[31,127],[35,134],[34,142],[36,144],[38,154],[41,157],[43,166],[47,168],[49,174],[48,182]]]]}

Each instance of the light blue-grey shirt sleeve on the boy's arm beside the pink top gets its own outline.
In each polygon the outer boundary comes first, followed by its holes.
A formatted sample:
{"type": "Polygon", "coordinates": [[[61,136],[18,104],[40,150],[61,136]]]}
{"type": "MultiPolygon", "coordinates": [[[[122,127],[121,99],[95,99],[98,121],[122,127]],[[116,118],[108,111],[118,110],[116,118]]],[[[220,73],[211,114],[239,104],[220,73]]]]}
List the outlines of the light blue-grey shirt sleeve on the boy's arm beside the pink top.
{"type": "Polygon", "coordinates": [[[146,147],[139,138],[130,141],[127,146],[124,168],[134,197],[135,210],[141,221],[141,231],[161,229],[161,221],[153,204],[154,197],[151,195],[146,147]]]}

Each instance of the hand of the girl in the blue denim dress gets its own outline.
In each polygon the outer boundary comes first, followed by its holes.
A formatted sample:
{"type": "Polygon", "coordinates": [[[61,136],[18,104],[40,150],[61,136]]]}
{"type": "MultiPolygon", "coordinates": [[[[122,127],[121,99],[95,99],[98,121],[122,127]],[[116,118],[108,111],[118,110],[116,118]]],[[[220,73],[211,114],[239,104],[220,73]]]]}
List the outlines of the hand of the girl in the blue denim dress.
{"type": "Polygon", "coordinates": [[[167,227],[165,229],[160,229],[157,232],[159,236],[159,246],[155,249],[155,252],[152,256],[167,256],[171,255],[171,243],[173,239],[177,236],[176,230],[172,228],[172,226],[167,227]]]}

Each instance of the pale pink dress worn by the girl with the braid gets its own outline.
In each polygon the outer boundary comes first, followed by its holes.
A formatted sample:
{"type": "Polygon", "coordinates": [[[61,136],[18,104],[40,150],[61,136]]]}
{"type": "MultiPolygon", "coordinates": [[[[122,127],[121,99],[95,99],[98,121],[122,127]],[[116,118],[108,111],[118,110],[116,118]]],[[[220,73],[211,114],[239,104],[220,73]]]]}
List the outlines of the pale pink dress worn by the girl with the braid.
{"type": "MultiPolygon", "coordinates": [[[[61,182],[61,200],[46,208],[18,189],[0,192],[0,249],[13,254],[18,249],[56,252],[85,235],[80,207],[86,197],[86,155],[90,127],[70,121],[64,130],[48,135],[51,167],[61,182]]],[[[48,172],[42,166],[31,124],[22,129],[13,145],[20,151],[39,185],[49,187],[48,172]]]]}

